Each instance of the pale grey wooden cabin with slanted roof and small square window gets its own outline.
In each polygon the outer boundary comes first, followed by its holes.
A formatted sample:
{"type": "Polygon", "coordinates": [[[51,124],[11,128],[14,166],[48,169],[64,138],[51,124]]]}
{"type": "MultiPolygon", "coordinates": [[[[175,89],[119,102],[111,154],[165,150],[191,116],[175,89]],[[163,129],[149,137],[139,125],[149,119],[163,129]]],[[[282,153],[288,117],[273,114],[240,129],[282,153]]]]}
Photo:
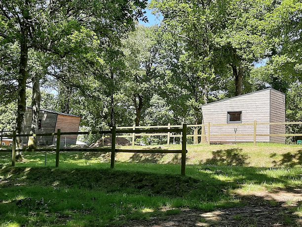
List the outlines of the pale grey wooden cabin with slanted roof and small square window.
{"type": "MultiPolygon", "coordinates": [[[[240,123],[285,122],[285,94],[268,88],[202,106],[205,132],[210,122],[211,143],[252,142],[254,136],[235,136],[254,134],[253,125],[240,123]],[[211,126],[225,124],[225,126],[211,126]],[[238,125],[237,125],[238,124],[238,125]],[[228,134],[234,136],[215,136],[228,134]]],[[[257,134],[285,134],[285,125],[257,125],[257,134]]],[[[206,136],[208,140],[208,136],[206,136]]],[[[285,143],[284,136],[257,136],[258,142],[285,143]]]]}

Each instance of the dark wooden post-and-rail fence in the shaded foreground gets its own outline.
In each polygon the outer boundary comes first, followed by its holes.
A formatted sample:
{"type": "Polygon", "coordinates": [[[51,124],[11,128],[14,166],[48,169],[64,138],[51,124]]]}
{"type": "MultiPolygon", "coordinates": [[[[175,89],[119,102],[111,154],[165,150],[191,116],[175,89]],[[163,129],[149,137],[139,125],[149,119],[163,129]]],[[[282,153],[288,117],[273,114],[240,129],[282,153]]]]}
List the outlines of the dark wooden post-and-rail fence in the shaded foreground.
{"type": "MultiPolygon", "coordinates": [[[[16,134],[16,131],[13,131],[12,134],[1,134],[1,137],[8,137],[13,139],[12,149],[0,149],[0,152],[12,152],[11,164],[15,166],[16,164],[16,151],[24,151],[24,149],[16,149],[16,137],[27,137],[27,136],[57,136],[56,144],[56,167],[59,167],[60,162],[60,152],[62,151],[81,151],[81,152],[111,152],[111,168],[114,168],[114,157],[116,152],[128,152],[128,153],[173,153],[173,154],[182,154],[181,159],[181,174],[185,176],[186,174],[186,155],[187,155],[187,124],[183,124],[177,128],[162,129],[125,129],[120,127],[116,130],[116,127],[112,127],[110,131],[94,131],[94,132],[61,132],[60,129],[56,133],[44,133],[44,134],[16,134]],[[162,134],[162,133],[179,133],[182,136],[182,149],[181,150],[160,150],[160,149],[116,149],[115,148],[115,138],[116,134],[132,134],[132,135],[149,135],[149,134],[162,134]],[[92,135],[92,134],[110,134],[112,135],[111,148],[61,148],[61,136],[63,135],[92,135]]],[[[38,148],[30,151],[54,151],[53,148],[38,148]]]]}

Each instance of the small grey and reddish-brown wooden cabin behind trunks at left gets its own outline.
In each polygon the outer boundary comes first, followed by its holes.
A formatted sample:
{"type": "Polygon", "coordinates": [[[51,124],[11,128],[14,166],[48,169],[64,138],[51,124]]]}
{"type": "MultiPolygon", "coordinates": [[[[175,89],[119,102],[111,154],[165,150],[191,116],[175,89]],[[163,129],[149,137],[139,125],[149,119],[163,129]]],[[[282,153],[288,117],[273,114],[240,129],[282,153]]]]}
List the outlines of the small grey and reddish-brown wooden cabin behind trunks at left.
{"type": "MultiPolygon", "coordinates": [[[[81,118],[72,114],[65,114],[45,109],[39,111],[39,126],[36,133],[55,133],[58,129],[61,132],[78,132],[81,118]]],[[[32,107],[26,107],[24,119],[24,133],[28,134],[31,131],[32,125],[32,107]]],[[[77,135],[61,136],[61,144],[76,144],[77,135]]],[[[56,143],[57,136],[38,136],[38,144],[56,143]]],[[[23,138],[23,143],[27,144],[28,137],[23,138]]]]}

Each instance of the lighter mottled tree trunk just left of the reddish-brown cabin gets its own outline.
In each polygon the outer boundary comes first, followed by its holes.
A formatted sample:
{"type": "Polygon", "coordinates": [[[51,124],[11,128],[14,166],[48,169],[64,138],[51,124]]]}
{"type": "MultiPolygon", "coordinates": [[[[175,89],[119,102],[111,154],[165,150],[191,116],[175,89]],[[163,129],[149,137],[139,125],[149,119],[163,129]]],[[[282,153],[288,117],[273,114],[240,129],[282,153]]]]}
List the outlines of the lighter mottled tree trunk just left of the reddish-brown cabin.
{"type": "MultiPolygon", "coordinates": [[[[40,79],[37,77],[33,78],[33,95],[32,95],[32,127],[31,134],[35,134],[39,126],[39,110],[40,110],[40,79]]],[[[36,136],[30,136],[27,144],[28,149],[37,148],[37,138],[36,136]]]]}

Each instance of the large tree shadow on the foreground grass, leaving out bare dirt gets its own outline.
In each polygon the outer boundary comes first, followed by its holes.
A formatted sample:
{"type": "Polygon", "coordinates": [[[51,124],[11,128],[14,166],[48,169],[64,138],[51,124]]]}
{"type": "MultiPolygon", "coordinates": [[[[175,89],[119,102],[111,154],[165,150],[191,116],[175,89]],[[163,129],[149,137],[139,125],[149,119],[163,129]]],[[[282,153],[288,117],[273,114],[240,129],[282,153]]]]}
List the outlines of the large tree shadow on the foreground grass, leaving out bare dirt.
{"type": "MultiPolygon", "coordinates": [[[[161,165],[156,166],[160,168],[161,165]]],[[[131,165],[128,168],[131,169],[131,165]]],[[[170,213],[183,217],[183,221],[176,220],[174,226],[195,226],[197,223],[210,223],[211,217],[224,219],[230,216],[227,210],[223,210],[229,207],[249,204],[249,212],[256,212],[255,209],[257,212],[265,211],[265,207],[258,208],[259,203],[265,202],[264,198],[252,199],[254,203],[251,205],[245,196],[234,196],[229,189],[240,187],[237,181],[243,174],[248,175],[245,179],[254,179],[255,182],[271,181],[272,178],[260,174],[259,168],[231,168],[234,169],[204,167],[198,171],[198,179],[110,169],[4,168],[0,170],[0,225],[10,222],[20,226],[114,226],[120,223],[125,226],[131,222],[129,220],[141,222],[170,213]],[[234,175],[232,181],[216,178],[217,174],[227,175],[228,171],[234,175]],[[189,214],[186,212],[168,212],[181,207],[195,210],[190,213],[192,216],[184,215],[189,214]],[[162,211],[163,208],[167,210],[162,211]],[[218,213],[203,215],[217,209],[220,209],[218,213]]],[[[274,180],[288,183],[284,179],[274,180]]],[[[279,207],[281,209],[278,204],[279,207]]],[[[239,210],[233,209],[234,215],[240,214],[239,210]]],[[[242,220],[246,219],[246,213],[241,213],[242,220]]],[[[156,225],[164,222],[157,219],[156,225]]]]}

